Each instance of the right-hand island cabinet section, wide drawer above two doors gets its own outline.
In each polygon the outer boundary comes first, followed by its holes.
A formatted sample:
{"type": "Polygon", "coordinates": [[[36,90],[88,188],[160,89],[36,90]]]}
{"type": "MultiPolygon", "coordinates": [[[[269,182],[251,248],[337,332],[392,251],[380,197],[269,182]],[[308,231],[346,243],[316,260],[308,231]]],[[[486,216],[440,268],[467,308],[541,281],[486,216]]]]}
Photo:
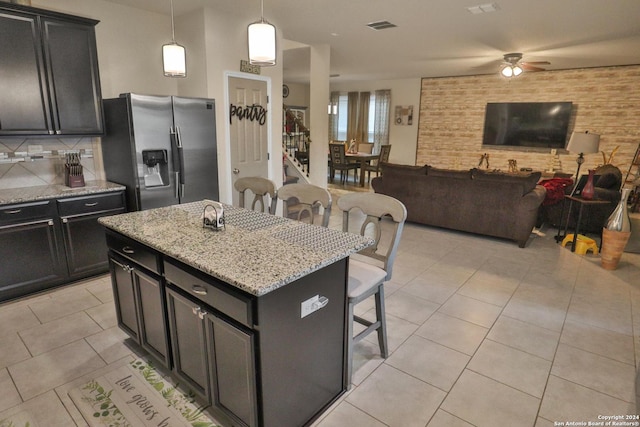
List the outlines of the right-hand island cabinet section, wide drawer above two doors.
{"type": "Polygon", "coordinates": [[[256,426],[254,300],[174,260],[164,274],[176,376],[231,425],[256,426]]]}

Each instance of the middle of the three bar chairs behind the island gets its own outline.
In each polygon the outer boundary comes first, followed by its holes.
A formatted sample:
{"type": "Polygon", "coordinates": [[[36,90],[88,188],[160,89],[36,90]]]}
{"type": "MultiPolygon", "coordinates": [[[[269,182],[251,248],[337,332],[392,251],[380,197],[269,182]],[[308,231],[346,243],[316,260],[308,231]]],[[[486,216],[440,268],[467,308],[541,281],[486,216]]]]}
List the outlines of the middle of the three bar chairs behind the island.
{"type": "Polygon", "coordinates": [[[331,216],[331,194],[324,188],[313,184],[287,184],[278,190],[278,198],[282,200],[282,216],[298,221],[327,227],[331,216]],[[319,211],[323,212],[320,217],[319,211]],[[321,218],[321,219],[320,219],[321,218]]]}

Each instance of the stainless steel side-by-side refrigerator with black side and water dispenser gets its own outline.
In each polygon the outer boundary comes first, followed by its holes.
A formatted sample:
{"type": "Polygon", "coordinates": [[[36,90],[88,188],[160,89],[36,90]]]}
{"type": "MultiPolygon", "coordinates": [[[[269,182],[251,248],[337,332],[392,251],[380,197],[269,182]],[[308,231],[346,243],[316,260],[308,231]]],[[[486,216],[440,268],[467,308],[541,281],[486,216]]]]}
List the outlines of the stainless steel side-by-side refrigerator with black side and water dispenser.
{"type": "Polygon", "coordinates": [[[218,200],[215,101],[127,93],[104,100],[106,178],[130,211],[218,200]]]}

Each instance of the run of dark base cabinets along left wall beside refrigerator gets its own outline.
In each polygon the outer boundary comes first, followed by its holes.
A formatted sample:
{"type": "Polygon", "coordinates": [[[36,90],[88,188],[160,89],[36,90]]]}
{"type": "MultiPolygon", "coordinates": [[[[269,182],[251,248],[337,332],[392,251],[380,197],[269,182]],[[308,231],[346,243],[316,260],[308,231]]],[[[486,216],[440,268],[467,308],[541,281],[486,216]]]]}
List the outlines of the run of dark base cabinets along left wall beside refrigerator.
{"type": "Polygon", "coordinates": [[[124,191],[0,206],[0,301],[107,272],[98,218],[124,211],[124,191]]]}

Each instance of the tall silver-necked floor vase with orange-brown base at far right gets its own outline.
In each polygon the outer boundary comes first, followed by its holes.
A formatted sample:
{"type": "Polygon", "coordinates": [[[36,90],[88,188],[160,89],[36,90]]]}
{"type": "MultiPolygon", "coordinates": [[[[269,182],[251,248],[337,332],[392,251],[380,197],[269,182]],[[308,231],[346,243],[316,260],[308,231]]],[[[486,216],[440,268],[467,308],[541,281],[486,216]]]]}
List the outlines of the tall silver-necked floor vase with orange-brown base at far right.
{"type": "Polygon", "coordinates": [[[602,229],[602,250],[600,262],[605,270],[615,270],[631,237],[631,222],[627,210],[629,189],[623,189],[618,206],[613,210],[602,229]]]}

